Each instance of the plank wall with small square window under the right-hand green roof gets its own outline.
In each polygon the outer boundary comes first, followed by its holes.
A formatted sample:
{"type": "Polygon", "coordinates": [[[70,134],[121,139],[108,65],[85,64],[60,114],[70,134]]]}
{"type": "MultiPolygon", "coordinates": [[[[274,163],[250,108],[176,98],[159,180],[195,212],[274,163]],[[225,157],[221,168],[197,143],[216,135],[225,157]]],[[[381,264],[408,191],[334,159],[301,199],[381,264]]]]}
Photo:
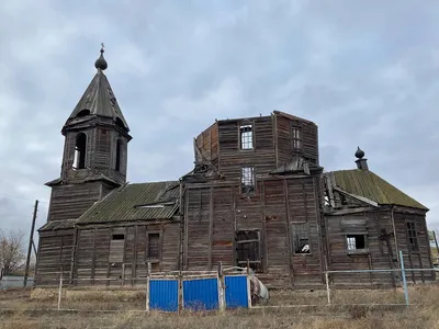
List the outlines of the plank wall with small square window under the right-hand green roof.
{"type": "MultiPolygon", "coordinates": [[[[373,211],[338,216],[326,216],[327,238],[329,245],[328,266],[333,271],[378,270],[397,266],[392,259],[396,257],[395,240],[390,238],[393,256],[389,253],[385,240],[381,240],[381,230],[393,232],[390,211],[373,211]],[[365,234],[365,253],[349,253],[346,236],[349,234],[365,234]]],[[[394,284],[389,273],[335,273],[331,282],[349,287],[379,287],[394,284]]]]}

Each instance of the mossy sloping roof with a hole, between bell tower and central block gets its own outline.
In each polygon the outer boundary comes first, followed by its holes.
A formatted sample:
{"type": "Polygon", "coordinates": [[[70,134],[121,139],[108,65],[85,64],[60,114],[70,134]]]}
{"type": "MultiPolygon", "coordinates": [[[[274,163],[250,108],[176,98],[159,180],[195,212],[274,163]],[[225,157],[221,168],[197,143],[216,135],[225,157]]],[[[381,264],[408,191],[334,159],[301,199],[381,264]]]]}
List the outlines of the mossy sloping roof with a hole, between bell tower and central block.
{"type": "Polygon", "coordinates": [[[126,184],[95,203],[78,224],[169,219],[178,211],[179,182],[126,184]]]}

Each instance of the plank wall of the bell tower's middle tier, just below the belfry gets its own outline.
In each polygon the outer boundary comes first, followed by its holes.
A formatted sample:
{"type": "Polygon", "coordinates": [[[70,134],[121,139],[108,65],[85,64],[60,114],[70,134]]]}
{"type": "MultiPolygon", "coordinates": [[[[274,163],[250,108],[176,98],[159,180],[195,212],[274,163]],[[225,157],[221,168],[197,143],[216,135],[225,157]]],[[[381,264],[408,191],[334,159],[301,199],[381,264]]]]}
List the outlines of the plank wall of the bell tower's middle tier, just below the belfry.
{"type": "Polygon", "coordinates": [[[48,220],[79,218],[101,197],[101,182],[52,186],[48,220]]]}

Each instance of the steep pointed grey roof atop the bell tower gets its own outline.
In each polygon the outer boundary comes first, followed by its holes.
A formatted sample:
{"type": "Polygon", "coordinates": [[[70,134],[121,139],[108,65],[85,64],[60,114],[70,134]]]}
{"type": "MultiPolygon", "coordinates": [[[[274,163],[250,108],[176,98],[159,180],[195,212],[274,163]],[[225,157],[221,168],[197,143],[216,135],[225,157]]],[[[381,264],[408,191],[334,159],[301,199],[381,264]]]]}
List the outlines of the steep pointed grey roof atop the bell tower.
{"type": "Polygon", "coordinates": [[[114,122],[121,121],[126,131],[130,132],[110,82],[101,69],[98,69],[98,72],[93,80],[91,80],[74,112],[71,112],[67,123],[78,120],[78,114],[82,110],[90,111],[91,115],[112,117],[114,122]]]}

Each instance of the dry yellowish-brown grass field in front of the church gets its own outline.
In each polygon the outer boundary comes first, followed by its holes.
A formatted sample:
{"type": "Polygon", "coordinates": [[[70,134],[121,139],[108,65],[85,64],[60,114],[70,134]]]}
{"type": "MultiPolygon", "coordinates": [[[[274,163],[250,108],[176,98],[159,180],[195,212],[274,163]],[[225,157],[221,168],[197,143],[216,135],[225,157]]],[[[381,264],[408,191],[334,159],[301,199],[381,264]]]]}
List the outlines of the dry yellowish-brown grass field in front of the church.
{"type": "Polygon", "coordinates": [[[65,291],[61,308],[56,291],[10,290],[0,292],[0,329],[87,329],[87,328],[435,328],[439,329],[439,286],[409,288],[410,306],[403,304],[401,290],[336,291],[330,307],[326,292],[272,291],[267,306],[217,313],[182,315],[143,311],[142,291],[65,291]],[[357,304],[357,305],[352,305],[357,304]],[[358,305],[368,304],[368,305],[358,305]],[[279,307],[283,306],[283,307],[279,307]],[[112,311],[103,311],[112,310],[112,311]]]}

